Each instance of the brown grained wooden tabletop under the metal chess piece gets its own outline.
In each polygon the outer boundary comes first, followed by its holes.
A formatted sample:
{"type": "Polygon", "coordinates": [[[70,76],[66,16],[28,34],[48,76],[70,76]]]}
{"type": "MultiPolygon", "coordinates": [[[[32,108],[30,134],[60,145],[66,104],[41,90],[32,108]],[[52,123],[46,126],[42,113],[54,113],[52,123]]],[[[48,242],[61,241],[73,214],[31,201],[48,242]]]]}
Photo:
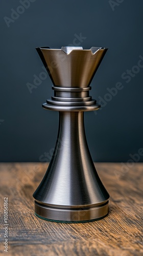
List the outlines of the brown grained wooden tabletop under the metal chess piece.
{"type": "Polygon", "coordinates": [[[110,194],[109,215],[79,224],[47,222],[34,215],[33,192],[47,163],[1,163],[3,255],[143,255],[142,163],[96,163],[110,194]],[[8,253],[4,251],[4,198],[8,197],[8,253]]]}

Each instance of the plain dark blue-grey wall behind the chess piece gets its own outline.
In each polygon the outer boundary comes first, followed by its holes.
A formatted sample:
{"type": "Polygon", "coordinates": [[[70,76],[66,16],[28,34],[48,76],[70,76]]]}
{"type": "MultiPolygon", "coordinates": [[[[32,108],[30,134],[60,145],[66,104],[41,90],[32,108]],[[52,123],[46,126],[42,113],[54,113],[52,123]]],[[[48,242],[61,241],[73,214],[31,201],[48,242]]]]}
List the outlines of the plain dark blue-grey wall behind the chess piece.
{"type": "MultiPolygon", "coordinates": [[[[33,84],[34,75],[44,72],[35,47],[61,48],[73,44],[75,34],[80,33],[86,37],[80,44],[84,49],[109,48],[92,80],[90,95],[99,101],[99,97],[108,98],[107,88],[123,84],[102,110],[85,113],[93,160],[126,162],[143,147],[143,67],[134,68],[140,55],[143,59],[143,1],[114,2],[118,3],[111,8],[108,0],[33,0],[27,9],[19,9],[20,1],[1,0],[1,162],[50,160],[47,156],[55,146],[58,113],[41,107],[53,94],[49,77],[32,93],[27,87],[28,82],[33,84]],[[15,14],[8,27],[4,17],[11,18],[11,9],[23,13],[15,14]],[[132,69],[136,73],[127,83],[122,74],[132,69]]],[[[142,160],[136,155],[134,161],[142,160]]]]}

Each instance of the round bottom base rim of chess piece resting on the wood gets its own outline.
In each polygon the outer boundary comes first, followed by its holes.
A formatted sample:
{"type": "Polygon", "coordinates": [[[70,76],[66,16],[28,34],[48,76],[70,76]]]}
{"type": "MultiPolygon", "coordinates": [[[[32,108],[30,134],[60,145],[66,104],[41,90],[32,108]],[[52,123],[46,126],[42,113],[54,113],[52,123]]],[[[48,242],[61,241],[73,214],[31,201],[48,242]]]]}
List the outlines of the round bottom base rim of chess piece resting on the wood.
{"type": "Polygon", "coordinates": [[[90,222],[108,215],[109,201],[90,208],[55,208],[39,204],[35,201],[35,215],[48,221],[59,222],[90,222]]]}

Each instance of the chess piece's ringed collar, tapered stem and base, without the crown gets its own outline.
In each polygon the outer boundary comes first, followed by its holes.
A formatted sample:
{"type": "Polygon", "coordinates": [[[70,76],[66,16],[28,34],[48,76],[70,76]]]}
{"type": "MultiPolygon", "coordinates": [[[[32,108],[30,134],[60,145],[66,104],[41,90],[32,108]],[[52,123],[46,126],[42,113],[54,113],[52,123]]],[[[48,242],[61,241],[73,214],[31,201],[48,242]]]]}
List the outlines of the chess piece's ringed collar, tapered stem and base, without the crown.
{"type": "MultiPolygon", "coordinates": [[[[68,86],[71,79],[66,80],[68,86]]],[[[67,86],[56,84],[54,97],[43,104],[45,109],[59,111],[59,130],[49,167],[33,195],[35,212],[58,221],[103,218],[108,214],[109,194],[94,167],[84,129],[84,111],[100,106],[89,96],[89,84],[81,88],[67,86]]]]}

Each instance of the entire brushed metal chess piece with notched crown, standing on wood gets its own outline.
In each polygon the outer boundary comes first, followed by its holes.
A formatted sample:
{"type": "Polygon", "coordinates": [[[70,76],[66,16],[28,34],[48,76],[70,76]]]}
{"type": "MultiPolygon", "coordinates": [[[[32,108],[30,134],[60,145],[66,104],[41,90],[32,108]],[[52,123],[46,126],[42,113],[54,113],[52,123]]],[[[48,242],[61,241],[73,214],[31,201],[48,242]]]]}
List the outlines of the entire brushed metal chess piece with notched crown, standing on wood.
{"type": "Polygon", "coordinates": [[[54,96],[42,106],[59,111],[59,130],[49,167],[33,194],[35,212],[59,221],[104,217],[108,214],[109,194],[89,153],[84,112],[100,108],[89,90],[107,49],[62,47],[37,51],[54,84],[54,96]]]}

